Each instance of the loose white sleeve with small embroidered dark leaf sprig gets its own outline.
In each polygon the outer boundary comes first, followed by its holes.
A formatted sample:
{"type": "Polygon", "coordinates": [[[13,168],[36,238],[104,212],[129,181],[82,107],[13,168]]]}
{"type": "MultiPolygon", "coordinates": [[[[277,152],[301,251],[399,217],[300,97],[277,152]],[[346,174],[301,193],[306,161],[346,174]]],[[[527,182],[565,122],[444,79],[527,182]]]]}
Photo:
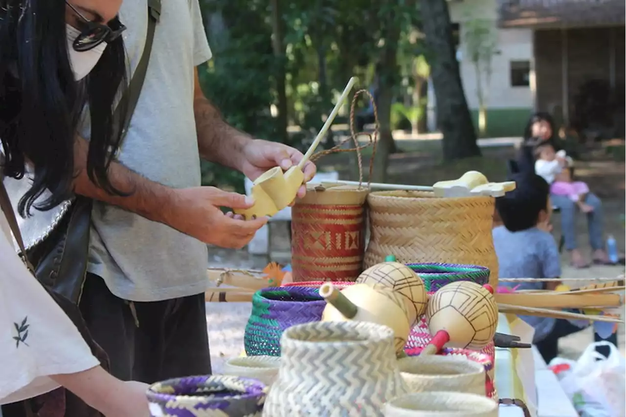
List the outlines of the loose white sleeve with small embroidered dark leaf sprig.
{"type": "Polygon", "coordinates": [[[24,266],[11,236],[0,211],[0,404],[58,388],[48,375],[100,364],[76,326],[24,266]]]}

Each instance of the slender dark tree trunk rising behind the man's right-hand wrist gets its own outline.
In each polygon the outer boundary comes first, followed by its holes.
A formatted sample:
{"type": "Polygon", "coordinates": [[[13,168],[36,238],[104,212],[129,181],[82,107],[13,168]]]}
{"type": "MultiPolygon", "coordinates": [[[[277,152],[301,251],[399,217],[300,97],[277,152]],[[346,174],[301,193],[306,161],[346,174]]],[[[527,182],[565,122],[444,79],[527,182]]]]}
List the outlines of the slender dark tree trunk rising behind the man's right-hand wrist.
{"type": "Polygon", "coordinates": [[[276,59],[276,93],[278,95],[278,118],[276,120],[276,140],[280,143],[289,143],[287,136],[287,86],[285,71],[285,45],[283,43],[284,30],[280,0],[272,0],[272,49],[276,59]]]}

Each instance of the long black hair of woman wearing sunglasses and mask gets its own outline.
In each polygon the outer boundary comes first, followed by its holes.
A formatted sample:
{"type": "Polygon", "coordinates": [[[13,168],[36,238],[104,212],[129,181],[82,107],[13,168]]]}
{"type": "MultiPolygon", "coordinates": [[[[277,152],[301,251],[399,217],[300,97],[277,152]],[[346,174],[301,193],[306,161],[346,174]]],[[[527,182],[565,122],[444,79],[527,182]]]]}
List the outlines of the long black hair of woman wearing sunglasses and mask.
{"type": "Polygon", "coordinates": [[[108,181],[107,170],[120,146],[123,116],[113,120],[115,98],[125,88],[122,38],[108,44],[100,61],[76,82],[69,63],[64,0],[0,0],[0,141],[5,176],[24,177],[33,165],[31,188],[20,199],[21,216],[35,204],[54,208],[71,196],[74,138],[86,105],[91,117],[87,173],[108,193],[124,195],[108,181]]]}

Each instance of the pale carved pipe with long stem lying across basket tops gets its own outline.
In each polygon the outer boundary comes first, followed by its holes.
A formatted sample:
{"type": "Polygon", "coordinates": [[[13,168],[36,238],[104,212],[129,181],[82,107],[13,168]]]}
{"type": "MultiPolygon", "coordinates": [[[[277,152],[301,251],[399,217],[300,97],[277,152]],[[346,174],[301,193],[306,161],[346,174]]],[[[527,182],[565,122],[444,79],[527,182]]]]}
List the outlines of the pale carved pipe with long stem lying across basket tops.
{"type": "MultiPolygon", "coordinates": [[[[333,184],[358,185],[356,181],[333,181],[322,183],[322,186],[333,184]]],[[[478,171],[468,171],[459,179],[451,181],[439,181],[432,187],[403,184],[370,183],[372,189],[401,189],[406,191],[433,191],[436,197],[468,197],[468,196],[491,196],[501,197],[515,189],[515,181],[505,183],[490,183],[488,179],[478,171]]]]}

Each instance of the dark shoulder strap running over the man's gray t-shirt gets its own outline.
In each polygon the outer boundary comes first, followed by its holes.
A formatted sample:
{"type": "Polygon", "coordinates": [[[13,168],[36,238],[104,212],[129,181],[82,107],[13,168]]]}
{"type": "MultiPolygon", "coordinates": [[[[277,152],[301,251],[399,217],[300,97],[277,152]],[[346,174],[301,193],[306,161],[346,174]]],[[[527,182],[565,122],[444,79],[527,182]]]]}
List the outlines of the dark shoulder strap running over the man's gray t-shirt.
{"type": "MultiPolygon", "coordinates": [[[[135,68],[133,78],[128,84],[128,89],[126,89],[124,95],[120,99],[120,104],[124,103],[125,106],[120,106],[118,104],[115,109],[115,114],[113,114],[113,119],[119,121],[121,118],[121,109],[126,108],[128,117],[126,118],[122,128],[122,138],[126,136],[126,132],[130,126],[130,121],[133,117],[133,113],[135,113],[139,97],[141,96],[143,82],[145,81],[146,73],[148,72],[148,63],[150,63],[150,54],[152,51],[152,44],[154,43],[156,24],[160,18],[161,0],[148,0],[148,32],[146,33],[146,43],[143,46],[143,53],[141,54],[137,68],[135,68]]],[[[118,148],[118,153],[120,152],[120,148],[118,148]]]]}

